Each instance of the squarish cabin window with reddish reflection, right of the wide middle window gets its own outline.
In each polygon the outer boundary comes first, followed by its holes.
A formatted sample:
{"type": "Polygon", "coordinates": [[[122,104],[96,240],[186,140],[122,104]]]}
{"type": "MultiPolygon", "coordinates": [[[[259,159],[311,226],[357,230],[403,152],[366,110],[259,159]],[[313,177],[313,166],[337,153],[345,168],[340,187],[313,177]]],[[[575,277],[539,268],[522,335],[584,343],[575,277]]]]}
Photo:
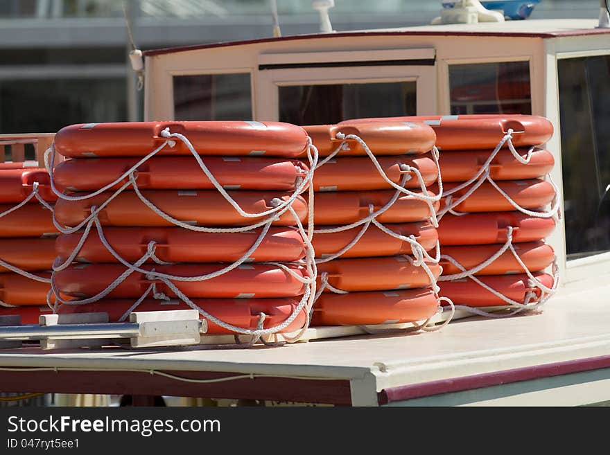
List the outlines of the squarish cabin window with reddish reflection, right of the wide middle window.
{"type": "Polygon", "coordinates": [[[532,114],[530,62],[449,66],[451,114],[532,114]]]}

